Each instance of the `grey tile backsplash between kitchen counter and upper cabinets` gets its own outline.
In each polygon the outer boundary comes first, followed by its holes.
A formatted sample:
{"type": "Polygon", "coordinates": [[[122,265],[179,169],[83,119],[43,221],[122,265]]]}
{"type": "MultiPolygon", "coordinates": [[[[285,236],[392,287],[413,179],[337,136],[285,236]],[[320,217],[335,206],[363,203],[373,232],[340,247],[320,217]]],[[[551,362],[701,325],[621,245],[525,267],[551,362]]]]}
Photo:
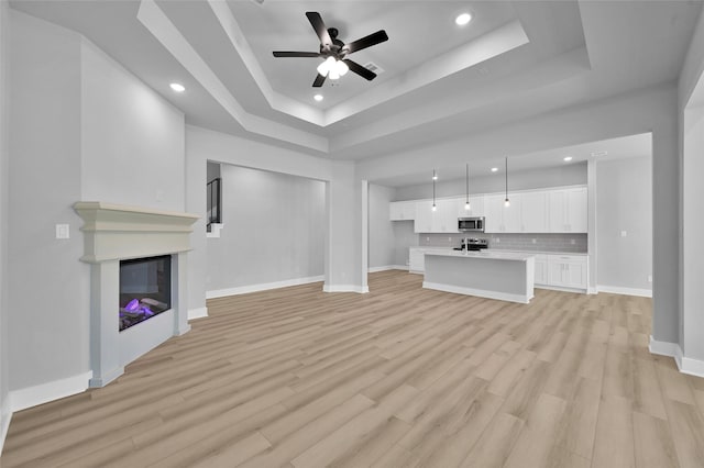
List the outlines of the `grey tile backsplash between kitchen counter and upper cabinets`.
{"type": "Polygon", "coordinates": [[[464,237],[485,238],[488,248],[504,250],[586,253],[586,234],[418,234],[421,247],[459,247],[464,237]]]}

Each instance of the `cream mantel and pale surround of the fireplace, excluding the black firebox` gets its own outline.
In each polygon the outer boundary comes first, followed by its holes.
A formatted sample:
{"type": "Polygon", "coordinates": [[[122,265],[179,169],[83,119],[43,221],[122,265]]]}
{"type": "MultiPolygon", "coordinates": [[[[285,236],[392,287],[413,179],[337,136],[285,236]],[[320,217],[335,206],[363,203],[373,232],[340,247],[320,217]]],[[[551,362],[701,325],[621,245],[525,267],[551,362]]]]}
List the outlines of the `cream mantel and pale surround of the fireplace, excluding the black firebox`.
{"type": "MultiPolygon", "coordinates": [[[[188,325],[187,253],[199,216],[96,201],[74,210],[84,220],[84,256],[90,264],[90,387],[103,387],[124,366],[188,325]],[[167,256],[170,261],[170,308],[120,331],[120,261],[167,256]]],[[[163,272],[163,271],[162,271],[163,272]]]]}

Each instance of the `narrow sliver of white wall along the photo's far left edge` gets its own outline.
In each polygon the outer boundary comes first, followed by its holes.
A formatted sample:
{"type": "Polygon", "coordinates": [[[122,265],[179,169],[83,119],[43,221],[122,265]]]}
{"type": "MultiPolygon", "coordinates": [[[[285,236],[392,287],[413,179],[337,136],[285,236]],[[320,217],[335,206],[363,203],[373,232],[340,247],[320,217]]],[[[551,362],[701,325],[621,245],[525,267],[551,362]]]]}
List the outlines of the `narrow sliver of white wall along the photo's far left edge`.
{"type": "Polygon", "coordinates": [[[0,0],[0,454],[10,424],[10,355],[9,355],[9,307],[8,307],[8,186],[9,133],[8,133],[8,42],[10,34],[9,7],[0,0]]]}

